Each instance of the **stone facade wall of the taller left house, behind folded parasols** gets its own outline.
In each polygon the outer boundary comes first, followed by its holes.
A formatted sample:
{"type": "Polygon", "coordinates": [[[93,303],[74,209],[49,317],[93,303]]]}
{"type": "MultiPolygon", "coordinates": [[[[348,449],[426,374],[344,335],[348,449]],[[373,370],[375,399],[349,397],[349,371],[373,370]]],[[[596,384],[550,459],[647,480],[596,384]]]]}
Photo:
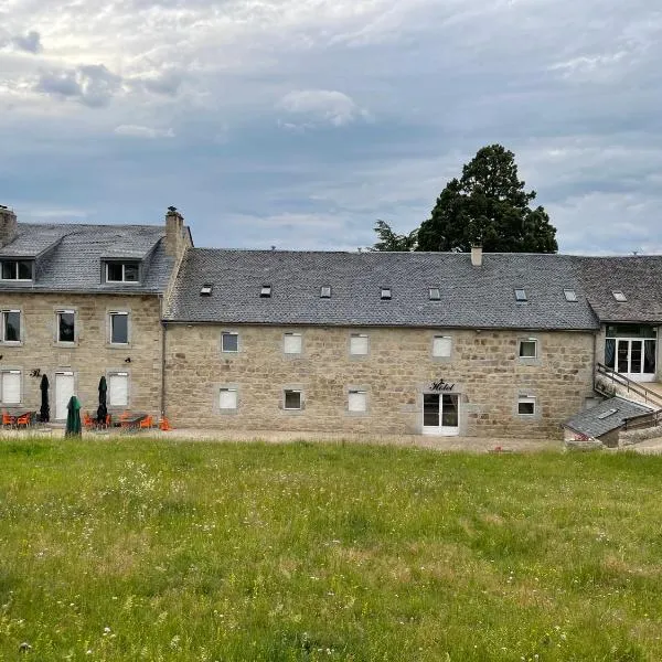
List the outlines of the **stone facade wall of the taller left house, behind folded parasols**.
{"type": "MultiPolygon", "coordinates": [[[[98,383],[109,372],[129,374],[129,408],[158,415],[161,409],[161,325],[157,296],[0,292],[0,310],[21,310],[20,344],[0,344],[0,370],[20,370],[20,408],[39,410],[41,374],[51,383],[51,416],[55,416],[55,373],[74,372],[84,410],[96,412],[98,383]],[[56,311],[76,311],[76,341],[57,343],[56,311]],[[109,311],[129,312],[129,344],[109,342],[109,311]],[[130,362],[127,362],[130,359],[130,362]],[[32,373],[40,371],[40,375],[32,373]]],[[[7,408],[3,403],[2,406],[7,408]]],[[[122,408],[116,408],[119,412],[122,408]]],[[[113,412],[113,408],[109,408],[113,412]]]]}

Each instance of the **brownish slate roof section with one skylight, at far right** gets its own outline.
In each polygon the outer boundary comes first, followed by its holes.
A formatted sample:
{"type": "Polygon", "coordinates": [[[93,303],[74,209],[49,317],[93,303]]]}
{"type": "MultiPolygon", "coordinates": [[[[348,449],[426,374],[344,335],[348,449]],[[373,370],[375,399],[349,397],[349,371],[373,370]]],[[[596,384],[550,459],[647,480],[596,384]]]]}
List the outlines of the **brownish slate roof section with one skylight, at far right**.
{"type": "Polygon", "coordinates": [[[662,256],[583,257],[581,279],[602,322],[662,322],[662,256]],[[611,293],[621,290],[627,301],[611,293]]]}

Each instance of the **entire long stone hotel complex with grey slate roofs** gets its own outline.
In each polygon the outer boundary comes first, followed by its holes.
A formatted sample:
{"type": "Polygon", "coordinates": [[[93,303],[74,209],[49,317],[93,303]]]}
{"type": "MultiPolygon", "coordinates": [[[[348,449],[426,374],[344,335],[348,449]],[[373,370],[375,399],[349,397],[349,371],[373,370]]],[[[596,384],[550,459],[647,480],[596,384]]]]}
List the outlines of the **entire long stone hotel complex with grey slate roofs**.
{"type": "Polygon", "coordinates": [[[560,436],[598,373],[656,388],[662,257],[194,248],[173,207],[1,207],[0,244],[0,406],[39,409],[46,374],[55,420],[102,375],[177,427],[366,435],[560,436]]]}

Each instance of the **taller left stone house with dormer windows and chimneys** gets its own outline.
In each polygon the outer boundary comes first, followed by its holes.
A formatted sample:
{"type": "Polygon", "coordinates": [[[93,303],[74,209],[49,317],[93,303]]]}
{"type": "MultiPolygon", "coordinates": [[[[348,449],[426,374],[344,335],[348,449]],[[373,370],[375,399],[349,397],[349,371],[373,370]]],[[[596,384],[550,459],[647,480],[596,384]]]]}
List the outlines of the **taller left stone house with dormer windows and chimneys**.
{"type": "Polygon", "coordinates": [[[76,394],[95,412],[102,376],[109,412],[158,415],[163,301],[184,250],[182,216],[163,226],[17,223],[0,207],[0,403],[39,410],[42,375],[51,419],[76,394]]]}

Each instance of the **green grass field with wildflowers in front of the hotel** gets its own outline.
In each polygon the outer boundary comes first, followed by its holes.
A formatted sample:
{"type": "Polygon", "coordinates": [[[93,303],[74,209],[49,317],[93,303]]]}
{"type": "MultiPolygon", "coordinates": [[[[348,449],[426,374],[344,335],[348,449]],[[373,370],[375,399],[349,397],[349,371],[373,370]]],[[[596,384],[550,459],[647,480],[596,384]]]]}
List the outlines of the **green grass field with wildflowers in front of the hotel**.
{"type": "Polygon", "coordinates": [[[0,659],[659,661],[661,487],[634,455],[1,440],[0,659]]]}

